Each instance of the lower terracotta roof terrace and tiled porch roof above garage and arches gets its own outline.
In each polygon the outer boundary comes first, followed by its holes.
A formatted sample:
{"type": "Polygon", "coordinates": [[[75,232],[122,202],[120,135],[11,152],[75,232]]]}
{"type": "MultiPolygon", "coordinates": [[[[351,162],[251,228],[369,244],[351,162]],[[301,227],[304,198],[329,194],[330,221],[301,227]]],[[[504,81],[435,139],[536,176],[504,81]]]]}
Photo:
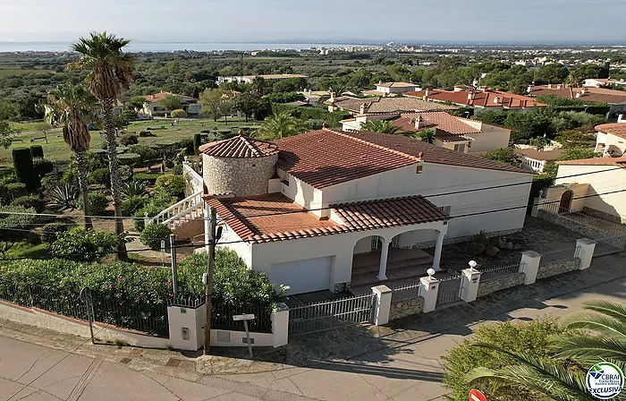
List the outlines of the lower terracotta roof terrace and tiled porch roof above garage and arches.
{"type": "Polygon", "coordinates": [[[269,243],[395,226],[410,226],[450,217],[421,196],[332,205],[341,222],[319,220],[281,193],[256,198],[206,197],[239,237],[269,243]]]}

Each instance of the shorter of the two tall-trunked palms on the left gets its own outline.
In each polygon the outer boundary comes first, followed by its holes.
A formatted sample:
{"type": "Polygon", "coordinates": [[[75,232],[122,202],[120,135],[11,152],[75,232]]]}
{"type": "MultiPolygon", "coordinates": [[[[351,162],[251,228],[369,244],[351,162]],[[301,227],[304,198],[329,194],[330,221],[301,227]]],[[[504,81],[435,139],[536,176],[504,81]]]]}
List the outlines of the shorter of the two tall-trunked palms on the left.
{"type": "Polygon", "coordinates": [[[76,167],[82,194],[85,229],[93,228],[89,212],[89,166],[85,153],[89,150],[91,135],[87,129],[89,119],[97,109],[97,99],[82,85],[66,83],[57,86],[47,96],[46,120],[50,124],[63,124],[63,140],[76,156],[76,167]]]}

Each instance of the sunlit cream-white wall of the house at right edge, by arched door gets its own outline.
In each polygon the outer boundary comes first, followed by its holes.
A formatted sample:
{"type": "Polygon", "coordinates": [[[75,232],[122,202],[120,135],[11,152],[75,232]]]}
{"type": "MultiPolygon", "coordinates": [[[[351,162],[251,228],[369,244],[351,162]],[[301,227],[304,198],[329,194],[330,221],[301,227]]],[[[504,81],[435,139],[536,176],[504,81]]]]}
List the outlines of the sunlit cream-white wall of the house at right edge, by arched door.
{"type": "Polygon", "coordinates": [[[626,193],[616,192],[590,196],[598,193],[615,192],[626,189],[626,170],[618,169],[616,166],[559,166],[559,173],[555,183],[588,183],[589,197],[584,200],[585,206],[604,211],[613,216],[619,216],[622,218],[622,221],[626,220],[626,193]],[[600,173],[586,174],[593,171],[599,171],[600,173]],[[559,176],[570,175],[579,176],[559,178],[559,176]]]}

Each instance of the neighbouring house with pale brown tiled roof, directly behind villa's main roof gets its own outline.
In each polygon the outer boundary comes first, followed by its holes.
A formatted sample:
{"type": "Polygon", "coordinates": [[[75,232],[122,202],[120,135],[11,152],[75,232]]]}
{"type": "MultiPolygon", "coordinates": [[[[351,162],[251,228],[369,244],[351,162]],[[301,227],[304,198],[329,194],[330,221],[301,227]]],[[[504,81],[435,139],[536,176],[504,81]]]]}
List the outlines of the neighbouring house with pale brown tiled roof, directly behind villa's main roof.
{"type": "Polygon", "coordinates": [[[335,110],[346,110],[355,115],[444,111],[456,108],[419,98],[352,98],[350,96],[337,98],[334,93],[331,93],[325,104],[328,105],[328,111],[331,113],[335,110]]]}

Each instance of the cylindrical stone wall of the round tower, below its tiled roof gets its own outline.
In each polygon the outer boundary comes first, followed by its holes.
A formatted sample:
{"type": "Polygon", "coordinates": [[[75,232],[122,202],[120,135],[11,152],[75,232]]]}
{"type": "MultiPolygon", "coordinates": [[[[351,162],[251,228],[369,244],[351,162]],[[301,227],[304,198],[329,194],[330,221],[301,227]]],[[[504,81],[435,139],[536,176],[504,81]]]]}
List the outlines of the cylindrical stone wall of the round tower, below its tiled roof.
{"type": "Polygon", "coordinates": [[[209,194],[256,196],[267,193],[278,155],[266,158],[214,158],[202,155],[204,182],[209,194]]]}

